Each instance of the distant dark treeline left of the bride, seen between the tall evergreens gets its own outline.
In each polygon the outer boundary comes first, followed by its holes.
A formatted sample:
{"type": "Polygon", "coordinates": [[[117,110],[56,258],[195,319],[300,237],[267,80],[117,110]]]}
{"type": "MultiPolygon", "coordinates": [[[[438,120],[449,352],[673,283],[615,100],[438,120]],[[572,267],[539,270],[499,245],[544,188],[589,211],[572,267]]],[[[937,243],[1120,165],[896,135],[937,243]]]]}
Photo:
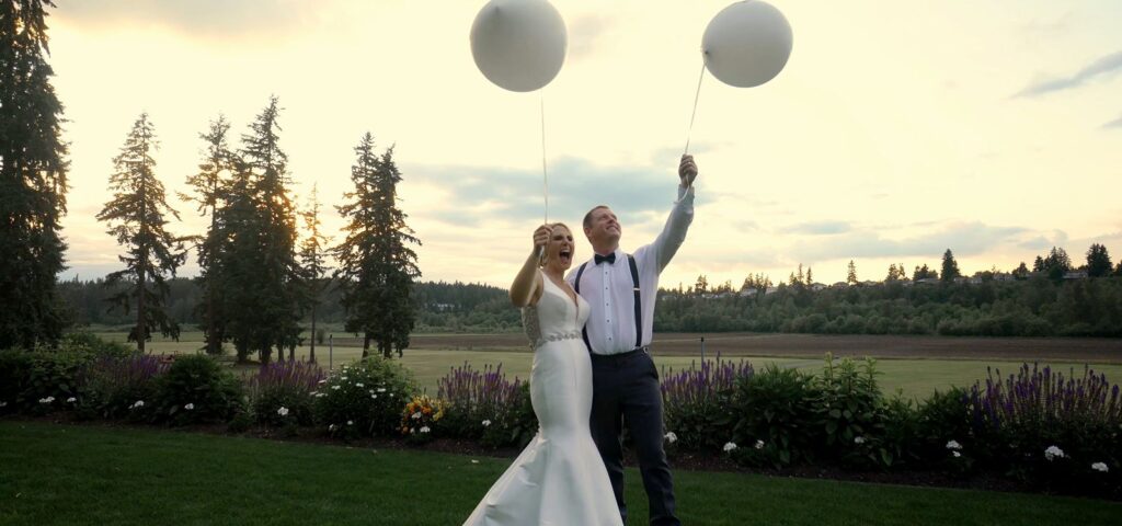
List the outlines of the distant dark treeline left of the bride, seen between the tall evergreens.
{"type": "MultiPolygon", "coordinates": [[[[184,325],[203,322],[199,310],[203,290],[199,279],[174,278],[167,280],[167,313],[184,325]]],[[[342,324],[347,313],[338,287],[327,280],[316,310],[320,323],[342,324]]],[[[77,326],[114,326],[127,330],[136,319],[120,310],[110,310],[109,298],[120,290],[107,287],[104,279],[79,280],[58,284],[64,301],[66,319],[77,326]]],[[[416,283],[412,294],[417,314],[417,332],[507,332],[521,331],[518,310],[511,306],[506,290],[482,284],[425,282],[416,283]]],[[[310,329],[310,316],[301,320],[310,329]]]]}

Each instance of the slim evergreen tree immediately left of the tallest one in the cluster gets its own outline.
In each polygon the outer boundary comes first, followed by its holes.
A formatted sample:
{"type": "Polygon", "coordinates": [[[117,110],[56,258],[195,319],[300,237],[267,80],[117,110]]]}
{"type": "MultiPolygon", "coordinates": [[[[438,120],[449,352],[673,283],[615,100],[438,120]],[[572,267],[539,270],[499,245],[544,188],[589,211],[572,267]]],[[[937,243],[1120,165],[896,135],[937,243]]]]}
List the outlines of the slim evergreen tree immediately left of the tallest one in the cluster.
{"type": "Polygon", "coordinates": [[[219,286],[220,270],[219,258],[221,255],[221,228],[219,227],[218,207],[223,200],[224,187],[229,184],[230,173],[233,168],[233,153],[227,144],[227,132],[230,130],[226,117],[219,116],[218,120],[210,122],[210,128],[205,133],[200,133],[199,138],[205,144],[203,160],[199,164],[199,173],[187,177],[187,186],[195,192],[194,196],[180,194],[184,201],[194,201],[199,204],[197,212],[201,216],[210,216],[210,227],[202,237],[199,248],[199,280],[203,288],[203,304],[201,317],[203,320],[203,335],[206,342],[206,353],[217,356],[222,353],[222,341],[224,340],[224,322],[219,308],[222,305],[220,297],[222,288],[219,286]]]}

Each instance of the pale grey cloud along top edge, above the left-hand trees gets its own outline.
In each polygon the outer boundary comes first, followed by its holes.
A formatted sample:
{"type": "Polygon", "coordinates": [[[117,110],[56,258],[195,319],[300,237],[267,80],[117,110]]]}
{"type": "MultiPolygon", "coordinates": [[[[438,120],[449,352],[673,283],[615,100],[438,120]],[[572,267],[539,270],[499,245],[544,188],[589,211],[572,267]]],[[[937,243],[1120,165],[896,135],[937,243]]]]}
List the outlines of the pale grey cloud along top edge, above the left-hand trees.
{"type": "Polygon", "coordinates": [[[188,36],[234,37],[306,26],[318,2],[297,0],[82,0],[52,15],[82,27],[120,22],[163,26],[188,36]]]}

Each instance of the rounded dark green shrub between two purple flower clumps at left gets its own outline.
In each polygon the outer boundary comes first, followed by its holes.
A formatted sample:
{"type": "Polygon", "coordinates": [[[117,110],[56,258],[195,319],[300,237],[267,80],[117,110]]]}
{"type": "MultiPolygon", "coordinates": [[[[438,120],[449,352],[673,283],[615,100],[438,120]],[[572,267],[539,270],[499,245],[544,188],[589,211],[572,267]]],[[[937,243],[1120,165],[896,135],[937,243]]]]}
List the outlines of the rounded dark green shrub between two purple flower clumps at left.
{"type": "Polygon", "coordinates": [[[172,425],[229,422],[242,409],[241,380],[206,354],[180,356],[159,376],[153,418],[172,425]]]}

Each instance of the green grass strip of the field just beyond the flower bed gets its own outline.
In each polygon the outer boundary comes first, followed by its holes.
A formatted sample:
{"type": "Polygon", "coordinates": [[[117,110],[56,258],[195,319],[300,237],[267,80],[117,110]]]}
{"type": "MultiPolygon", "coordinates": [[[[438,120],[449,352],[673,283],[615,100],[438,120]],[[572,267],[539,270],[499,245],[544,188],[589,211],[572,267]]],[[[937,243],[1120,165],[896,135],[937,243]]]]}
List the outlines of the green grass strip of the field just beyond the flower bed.
{"type": "MultiPolygon", "coordinates": [[[[125,333],[103,332],[100,336],[111,341],[125,341],[125,333]]],[[[202,333],[197,331],[185,332],[178,342],[156,338],[147,344],[147,350],[153,353],[190,353],[202,347],[202,333]]],[[[328,347],[316,345],[316,358],[327,368],[329,363],[328,347]]],[[[362,350],[352,347],[335,347],[331,362],[338,367],[358,359],[362,350]]],[[[296,356],[306,358],[307,347],[296,349],[296,356]]],[[[736,360],[742,357],[735,358],[736,360]]],[[[763,369],[767,363],[776,363],[780,367],[794,367],[809,372],[820,372],[824,361],[821,359],[804,358],[773,358],[773,357],[743,357],[752,362],[756,369],[763,369]]],[[[431,394],[436,393],[436,380],[448,373],[451,367],[461,366],[465,362],[472,367],[482,368],[484,364],[503,363],[503,370],[513,378],[527,378],[533,354],[528,350],[509,349],[482,349],[482,350],[433,350],[433,349],[407,349],[403,363],[413,370],[421,387],[431,394]]],[[[689,367],[698,357],[682,356],[659,356],[655,353],[655,362],[663,369],[673,368],[680,370],[689,367]]],[[[880,377],[881,388],[888,394],[903,391],[908,398],[923,399],[930,396],[935,389],[946,390],[955,385],[967,387],[974,385],[977,379],[984,379],[986,367],[994,367],[1003,375],[1015,372],[1021,366],[1020,361],[999,360],[940,360],[940,359],[881,359],[877,360],[877,369],[883,372],[880,377]]],[[[1083,375],[1083,363],[1074,362],[1051,362],[1054,370],[1063,371],[1074,368],[1077,375],[1083,375]]],[[[1096,371],[1105,372],[1106,378],[1112,382],[1122,382],[1122,364],[1092,364],[1096,371]]],[[[251,369],[247,368],[247,372],[251,369]]]]}

